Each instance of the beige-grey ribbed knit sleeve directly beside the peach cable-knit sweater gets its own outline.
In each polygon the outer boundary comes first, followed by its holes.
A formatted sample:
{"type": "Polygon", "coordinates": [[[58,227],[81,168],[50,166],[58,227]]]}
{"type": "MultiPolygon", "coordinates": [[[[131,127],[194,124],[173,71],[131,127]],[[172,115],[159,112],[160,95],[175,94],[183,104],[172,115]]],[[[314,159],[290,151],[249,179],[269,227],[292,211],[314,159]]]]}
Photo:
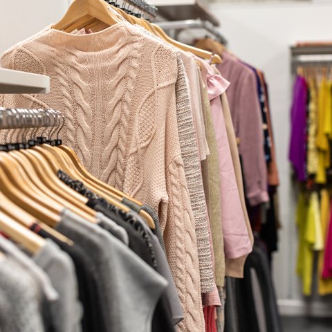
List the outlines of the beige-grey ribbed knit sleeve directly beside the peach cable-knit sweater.
{"type": "Polygon", "coordinates": [[[176,116],[178,120],[178,135],[183,158],[185,178],[190,194],[192,212],[194,212],[197,249],[199,252],[199,272],[201,292],[208,293],[214,289],[211,248],[206,218],[206,202],[203,189],[199,151],[195,136],[192,108],[185,68],[180,57],[178,61],[178,80],[176,82],[176,116]]]}

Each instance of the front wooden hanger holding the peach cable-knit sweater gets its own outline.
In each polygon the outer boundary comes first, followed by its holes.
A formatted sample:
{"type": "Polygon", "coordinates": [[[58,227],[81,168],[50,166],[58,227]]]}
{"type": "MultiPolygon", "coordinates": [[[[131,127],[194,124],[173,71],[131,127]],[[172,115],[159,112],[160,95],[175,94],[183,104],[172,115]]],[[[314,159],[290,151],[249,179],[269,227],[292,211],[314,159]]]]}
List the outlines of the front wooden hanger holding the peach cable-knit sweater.
{"type": "Polygon", "coordinates": [[[108,26],[123,21],[123,18],[104,0],[74,0],[66,14],[57,24],[52,26],[56,30],[71,32],[75,28],[80,30],[92,21],[98,19],[108,26]]]}

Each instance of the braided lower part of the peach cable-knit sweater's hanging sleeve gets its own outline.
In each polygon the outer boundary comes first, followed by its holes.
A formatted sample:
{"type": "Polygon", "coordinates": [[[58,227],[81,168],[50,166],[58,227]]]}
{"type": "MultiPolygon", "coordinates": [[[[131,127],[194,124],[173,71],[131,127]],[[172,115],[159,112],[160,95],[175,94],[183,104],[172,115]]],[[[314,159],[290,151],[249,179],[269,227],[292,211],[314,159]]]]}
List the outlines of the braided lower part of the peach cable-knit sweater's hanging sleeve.
{"type": "Polygon", "coordinates": [[[165,238],[165,244],[178,296],[183,305],[184,320],[178,324],[178,331],[202,332],[205,331],[202,317],[193,315],[193,313],[201,313],[203,316],[203,307],[199,282],[199,259],[197,253],[190,250],[190,248],[196,248],[192,212],[190,206],[183,205],[186,201],[185,196],[188,197],[189,194],[187,187],[183,187],[178,181],[184,176],[181,156],[174,158],[168,167],[168,172],[167,182],[170,188],[167,192],[169,192],[169,203],[172,203],[172,211],[169,213],[174,214],[175,234],[165,238]],[[169,251],[169,247],[172,247],[169,241],[175,242],[174,253],[169,251]]]}

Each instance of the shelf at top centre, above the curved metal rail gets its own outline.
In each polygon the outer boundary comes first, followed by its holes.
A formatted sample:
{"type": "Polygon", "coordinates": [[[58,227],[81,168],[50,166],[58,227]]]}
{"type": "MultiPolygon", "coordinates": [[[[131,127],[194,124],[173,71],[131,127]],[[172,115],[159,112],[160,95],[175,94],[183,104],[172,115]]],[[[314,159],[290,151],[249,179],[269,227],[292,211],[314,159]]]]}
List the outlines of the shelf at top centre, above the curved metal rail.
{"type": "Polygon", "coordinates": [[[149,3],[158,8],[158,14],[168,21],[181,21],[183,19],[202,19],[219,26],[217,19],[208,10],[203,0],[150,0],[149,3]]]}

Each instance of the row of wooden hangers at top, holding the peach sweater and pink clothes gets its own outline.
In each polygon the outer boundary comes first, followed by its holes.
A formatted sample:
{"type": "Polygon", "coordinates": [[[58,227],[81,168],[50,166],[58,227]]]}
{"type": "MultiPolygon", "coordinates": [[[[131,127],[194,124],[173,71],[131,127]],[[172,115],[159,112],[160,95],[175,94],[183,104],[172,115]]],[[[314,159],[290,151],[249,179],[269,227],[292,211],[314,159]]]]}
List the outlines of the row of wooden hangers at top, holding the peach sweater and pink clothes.
{"type": "MultiPolygon", "coordinates": [[[[137,0],[126,1],[133,3],[135,6],[137,0]]],[[[158,25],[151,23],[147,19],[142,19],[139,13],[133,15],[132,10],[129,11],[127,8],[121,9],[116,6],[116,3],[109,0],[74,0],[64,17],[62,17],[57,24],[54,24],[52,28],[63,30],[67,33],[71,33],[76,29],[81,30],[82,28],[86,30],[90,29],[95,32],[123,21],[127,21],[130,24],[138,24],[150,33],[153,33],[165,40],[165,42],[181,50],[194,53],[203,59],[211,60],[212,64],[221,64],[221,57],[218,54],[213,54],[207,50],[177,42],[170,38],[158,25]]]]}

